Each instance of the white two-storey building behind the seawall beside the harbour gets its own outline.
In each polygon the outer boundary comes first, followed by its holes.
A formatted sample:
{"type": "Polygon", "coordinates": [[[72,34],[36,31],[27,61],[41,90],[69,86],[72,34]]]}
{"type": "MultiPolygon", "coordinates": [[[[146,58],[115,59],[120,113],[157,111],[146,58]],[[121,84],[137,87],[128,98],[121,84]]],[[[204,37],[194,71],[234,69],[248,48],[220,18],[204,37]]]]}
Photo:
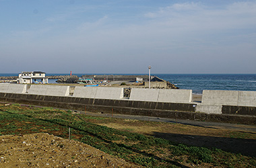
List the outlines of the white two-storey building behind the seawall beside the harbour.
{"type": "Polygon", "coordinates": [[[41,71],[19,73],[17,83],[48,83],[48,78],[41,71]]]}

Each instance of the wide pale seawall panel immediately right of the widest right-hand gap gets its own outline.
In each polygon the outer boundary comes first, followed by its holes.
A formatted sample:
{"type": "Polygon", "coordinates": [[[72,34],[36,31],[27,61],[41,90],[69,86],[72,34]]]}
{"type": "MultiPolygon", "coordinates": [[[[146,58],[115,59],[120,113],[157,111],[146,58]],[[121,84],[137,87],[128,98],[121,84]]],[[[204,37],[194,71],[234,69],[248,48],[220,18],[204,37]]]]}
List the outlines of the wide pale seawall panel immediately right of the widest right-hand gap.
{"type": "Polygon", "coordinates": [[[237,106],[238,91],[203,90],[201,103],[237,106]]]}

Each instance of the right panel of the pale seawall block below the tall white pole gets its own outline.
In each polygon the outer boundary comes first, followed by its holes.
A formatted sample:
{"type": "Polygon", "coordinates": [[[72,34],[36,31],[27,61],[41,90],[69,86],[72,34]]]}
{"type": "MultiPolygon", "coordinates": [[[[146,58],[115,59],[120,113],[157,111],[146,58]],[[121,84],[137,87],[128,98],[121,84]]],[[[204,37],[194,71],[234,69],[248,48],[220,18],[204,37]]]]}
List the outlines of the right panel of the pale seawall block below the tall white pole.
{"type": "Polygon", "coordinates": [[[158,101],[170,103],[189,103],[192,101],[192,90],[160,89],[158,101]]]}

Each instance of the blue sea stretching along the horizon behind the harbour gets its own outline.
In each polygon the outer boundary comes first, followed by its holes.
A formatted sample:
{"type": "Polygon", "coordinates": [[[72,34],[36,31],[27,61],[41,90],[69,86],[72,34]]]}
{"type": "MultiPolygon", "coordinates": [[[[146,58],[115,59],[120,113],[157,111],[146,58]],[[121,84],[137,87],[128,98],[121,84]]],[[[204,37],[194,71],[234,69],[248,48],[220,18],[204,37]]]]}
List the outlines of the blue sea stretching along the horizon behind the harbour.
{"type": "MultiPolygon", "coordinates": [[[[51,75],[69,75],[64,73],[46,73],[51,75]]],[[[82,77],[82,75],[91,75],[84,73],[73,73],[82,77]]],[[[110,75],[110,74],[94,74],[110,75]]],[[[111,74],[111,75],[145,75],[145,74],[111,74]]],[[[256,91],[256,74],[152,74],[160,77],[170,83],[173,83],[179,89],[192,89],[193,93],[201,94],[203,90],[233,90],[233,91],[256,91]]],[[[16,73],[0,73],[0,76],[18,76],[16,73]]],[[[56,83],[55,79],[49,80],[49,83],[56,83]]]]}

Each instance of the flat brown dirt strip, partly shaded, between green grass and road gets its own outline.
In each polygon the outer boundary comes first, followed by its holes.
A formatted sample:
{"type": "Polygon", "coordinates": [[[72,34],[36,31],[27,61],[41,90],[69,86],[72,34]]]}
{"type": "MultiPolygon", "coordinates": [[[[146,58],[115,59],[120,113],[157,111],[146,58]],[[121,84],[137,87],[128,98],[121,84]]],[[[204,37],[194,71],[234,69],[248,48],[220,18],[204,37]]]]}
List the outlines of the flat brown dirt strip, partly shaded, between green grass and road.
{"type": "MultiPolygon", "coordinates": [[[[93,115],[93,113],[90,113],[90,115],[93,115]]],[[[110,114],[94,115],[110,116],[110,114]]],[[[98,122],[97,120],[90,120],[90,122],[119,130],[165,138],[171,142],[203,146],[210,149],[217,148],[231,153],[241,153],[242,155],[256,157],[256,126],[196,121],[187,121],[187,123],[183,122],[183,124],[178,122],[176,124],[149,122],[143,120],[142,116],[136,117],[138,120],[129,119],[131,116],[115,116],[126,119],[115,120],[113,118],[113,121],[108,122],[98,122]]]]}

